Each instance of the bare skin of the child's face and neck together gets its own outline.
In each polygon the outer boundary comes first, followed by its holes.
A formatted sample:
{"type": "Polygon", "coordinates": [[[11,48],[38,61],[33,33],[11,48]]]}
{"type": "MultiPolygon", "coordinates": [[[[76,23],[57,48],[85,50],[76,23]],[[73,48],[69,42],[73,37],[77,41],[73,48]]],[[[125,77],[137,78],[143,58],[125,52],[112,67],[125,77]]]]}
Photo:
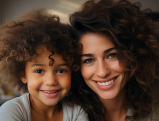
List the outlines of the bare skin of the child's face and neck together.
{"type": "Polygon", "coordinates": [[[52,53],[45,46],[39,46],[36,52],[39,55],[33,55],[32,61],[26,63],[25,76],[21,76],[22,82],[28,85],[32,120],[62,121],[63,110],[59,101],[71,88],[71,69],[56,51],[51,56],[55,60],[53,66],[49,66],[48,58],[52,53]]]}

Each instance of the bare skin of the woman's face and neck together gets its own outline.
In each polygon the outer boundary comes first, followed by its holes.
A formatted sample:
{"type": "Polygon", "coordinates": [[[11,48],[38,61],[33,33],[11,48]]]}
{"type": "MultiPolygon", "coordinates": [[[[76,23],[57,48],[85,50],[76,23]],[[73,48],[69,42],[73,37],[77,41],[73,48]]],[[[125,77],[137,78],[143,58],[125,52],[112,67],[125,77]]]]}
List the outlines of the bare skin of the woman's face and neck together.
{"type": "Polygon", "coordinates": [[[81,73],[86,84],[103,103],[109,121],[125,120],[128,73],[119,63],[115,45],[102,33],[86,33],[79,42],[83,45],[81,73]]]}

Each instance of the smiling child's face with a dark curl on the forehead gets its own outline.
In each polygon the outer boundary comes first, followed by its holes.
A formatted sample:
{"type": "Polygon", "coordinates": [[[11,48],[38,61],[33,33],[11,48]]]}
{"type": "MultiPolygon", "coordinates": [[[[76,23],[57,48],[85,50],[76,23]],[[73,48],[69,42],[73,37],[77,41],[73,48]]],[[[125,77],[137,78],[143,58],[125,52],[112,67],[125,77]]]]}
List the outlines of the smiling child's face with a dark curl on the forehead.
{"type": "Polygon", "coordinates": [[[56,105],[64,98],[71,88],[71,69],[67,63],[54,51],[51,58],[53,66],[49,66],[52,53],[45,46],[36,49],[40,55],[34,55],[32,61],[25,66],[25,77],[21,77],[23,83],[27,83],[31,98],[36,103],[48,106],[56,105]]]}

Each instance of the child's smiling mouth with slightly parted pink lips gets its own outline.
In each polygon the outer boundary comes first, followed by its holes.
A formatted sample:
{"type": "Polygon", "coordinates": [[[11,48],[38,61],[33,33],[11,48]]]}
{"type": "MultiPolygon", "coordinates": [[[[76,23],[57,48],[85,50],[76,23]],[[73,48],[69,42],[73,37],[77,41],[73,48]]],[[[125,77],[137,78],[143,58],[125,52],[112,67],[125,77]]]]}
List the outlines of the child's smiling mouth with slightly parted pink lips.
{"type": "Polygon", "coordinates": [[[40,90],[46,97],[56,97],[61,90],[40,90]]]}

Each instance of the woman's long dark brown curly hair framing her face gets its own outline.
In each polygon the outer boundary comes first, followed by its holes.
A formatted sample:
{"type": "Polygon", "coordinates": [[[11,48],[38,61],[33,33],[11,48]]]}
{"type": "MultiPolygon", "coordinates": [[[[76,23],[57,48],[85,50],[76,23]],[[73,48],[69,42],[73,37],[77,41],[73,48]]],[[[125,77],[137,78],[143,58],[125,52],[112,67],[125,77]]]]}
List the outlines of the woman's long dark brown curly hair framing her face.
{"type": "MultiPolygon", "coordinates": [[[[70,15],[70,23],[77,41],[89,32],[112,38],[119,62],[129,71],[127,105],[133,110],[133,116],[126,118],[135,120],[150,114],[154,102],[159,102],[159,42],[155,37],[156,23],[140,10],[140,3],[90,0],[79,12],[70,15]]],[[[78,73],[74,100],[86,110],[90,121],[104,121],[103,105],[78,73]]]]}

